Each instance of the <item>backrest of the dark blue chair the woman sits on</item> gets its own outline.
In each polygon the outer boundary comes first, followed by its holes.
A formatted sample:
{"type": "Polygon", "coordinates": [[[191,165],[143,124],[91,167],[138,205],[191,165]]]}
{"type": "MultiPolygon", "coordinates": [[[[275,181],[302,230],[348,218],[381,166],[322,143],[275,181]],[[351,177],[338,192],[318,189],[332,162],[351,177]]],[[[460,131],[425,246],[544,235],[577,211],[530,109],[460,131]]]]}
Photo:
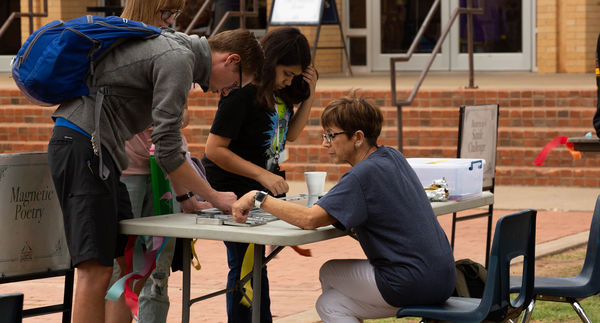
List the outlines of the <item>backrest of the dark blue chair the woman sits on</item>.
{"type": "Polygon", "coordinates": [[[506,215],[496,224],[488,263],[488,275],[479,309],[488,318],[501,320],[511,309],[526,307],[534,297],[535,219],[537,211],[506,215]],[[510,261],[523,256],[519,295],[510,300],[510,261]]]}

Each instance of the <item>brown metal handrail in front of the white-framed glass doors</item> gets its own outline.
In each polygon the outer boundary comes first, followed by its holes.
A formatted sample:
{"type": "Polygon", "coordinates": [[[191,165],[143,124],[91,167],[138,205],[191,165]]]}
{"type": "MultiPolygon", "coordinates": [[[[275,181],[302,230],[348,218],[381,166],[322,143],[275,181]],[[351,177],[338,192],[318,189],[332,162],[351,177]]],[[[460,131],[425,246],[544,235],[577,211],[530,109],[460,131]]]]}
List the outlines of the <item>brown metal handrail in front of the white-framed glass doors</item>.
{"type": "Polygon", "coordinates": [[[398,121],[397,121],[398,122],[398,150],[400,150],[400,151],[402,151],[402,106],[410,105],[413,102],[413,100],[415,99],[415,97],[417,96],[417,92],[421,88],[421,84],[423,84],[423,81],[425,80],[427,73],[429,73],[429,69],[431,68],[431,65],[433,65],[433,61],[435,60],[436,55],[440,52],[442,43],[446,39],[446,36],[450,32],[450,28],[452,27],[452,24],[454,23],[454,21],[456,20],[456,17],[458,17],[459,14],[467,14],[468,15],[467,16],[467,34],[468,34],[467,47],[468,47],[468,51],[469,51],[469,76],[470,76],[469,84],[472,87],[472,79],[473,79],[473,64],[472,64],[472,58],[473,58],[473,39],[472,39],[472,29],[473,29],[472,21],[473,20],[472,20],[472,18],[473,18],[473,16],[472,15],[484,13],[485,7],[484,7],[484,4],[482,4],[481,0],[477,0],[477,8],[473,7],[473,0],[467,0],[466,8],[457,7],[456,9],[454,9],[454,12],[452,13],[452,16],[450,17],[450,20],[444,27],[442,35],[438,39],[437,43],[435,44],[435,47],[433,48],[433,51],[431,52],[429,61],[427,62],[427,65],[425,66],[425,68],[421,71],[421,75],[419,76],[417,83],[413,87],[413,90],[410,93],[408,99],[403,100],[403,101],[396,100],[396,62],[404,62],[404,61],[410,60],[415,49],[417,48],[417,44],[418,44],[419,40],[425,33],[425,30],[427,29],[427,27],[429,27],[429,23],[431,22],[431,20],[433,18],[433,14],[435,13],[435,10],[439,9],[440,3],[441,3],[441,0],[435,0],[433,5],[429,9],[429,12],[427,13],[427,16],[425,17],[423,24],[419,28],[419,31],[417,32],[417,36],[413,39],[413,42],[412,42],[408,52],[406,54],[400,55],[398,57],[390,58],[392,105],[395,105],[398,108],[398,121]]]}

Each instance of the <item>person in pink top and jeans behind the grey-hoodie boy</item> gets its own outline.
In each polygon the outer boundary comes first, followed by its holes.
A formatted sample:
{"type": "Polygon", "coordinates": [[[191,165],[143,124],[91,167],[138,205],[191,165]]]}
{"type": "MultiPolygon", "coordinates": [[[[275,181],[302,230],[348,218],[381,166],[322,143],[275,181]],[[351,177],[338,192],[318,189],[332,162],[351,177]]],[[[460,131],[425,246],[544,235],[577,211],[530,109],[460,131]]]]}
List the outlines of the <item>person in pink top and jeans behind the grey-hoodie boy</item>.
{"type": "MultiPolygon", "coordinates": [[[[141,21],[146,24],[157,27],[169,27],[173,25],[178,14],[183,10],[184,0],[129,0],[125,4],[121,17],[141,21]]],[[[182,118],[182,129],[189,123],[189,111],[187,104],[184,107],[182,118]]],[[[150,176],[150,149],[152,146],[152,127],[133,136],[125,143],[125,151],[129,158],[129,167],[123,171],[121,182],[127,186],[129,199],[134,218],[153,216],[153,192],[152,178],[150,176]]],[[[187,151],[187,140],[181,136],[183,148],[187,151]]],[[[186,160],[192,162],[189,152],[186,153],[186,160]]],[[[203,173],[200,173],[206,178],[203,173]]],[[[178,183],[171,180],[171,187],[176,194],[174,202],[174,212],[195,213],[197,210],[210,208],[209,202],[200,202],[194,194],[188,194],[188,190],[178,183]],[[191,196],[190,196],[191,195],[191,196]],[[190,198],[193,197],[193,198],[190,198]]],[[[201,198],[198,196],[198,198],[201,198]]],[[[146,250],[152,250],[153,238],[145,236],[146,250]]],[[[139,293],[139,307],[137,318],[140,322],[166,322],[169,311],[168,281],[170,267],[175,253],[176,239],[167,240],[161,247],[161,252],[156,260],[156,268],[150,273],[149,278],[136,286],[142,286],[139,293]]],[[[119,265],[115,262],[113,265],[113,275],[111,284],[121,276],[119,265]]],[[[122,299],[122,298],[121,298],[122,299]]],[[[110,302],[110,301],[107,301],[110,302]]],[[[122,311],[129,311],[124,306],[119,306],[122,311]]],[[[116,313],[117,311],[113,311],[116,313]]],[[[119,317],[126,317],[127,313],[120,313],[119,317]]],[[[115,318],[116,319],[116,318],[115,318]]],[[[131,319],[127,320],[130,322],[131,319]]]]}

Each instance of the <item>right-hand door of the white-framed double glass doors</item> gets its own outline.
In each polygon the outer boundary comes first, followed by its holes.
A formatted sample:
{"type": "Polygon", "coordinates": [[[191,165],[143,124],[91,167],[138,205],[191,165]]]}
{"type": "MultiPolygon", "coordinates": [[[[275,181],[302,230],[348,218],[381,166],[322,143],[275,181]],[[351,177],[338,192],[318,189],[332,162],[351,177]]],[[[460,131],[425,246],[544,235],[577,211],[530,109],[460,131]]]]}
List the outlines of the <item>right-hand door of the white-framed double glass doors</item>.
{"type": "MultiPolygon", "coordinates": [[[[452,0],[451,7],[466,6],[452,0]]],[[[473,3],[477,5],[476,0],[473,3]]],[[[533,63],[534,1],[484,0],[484,13],[473,15],[473,64],[476,71],[531,70],[533,63]]],[[[451,29],[450,69],[469,69],[467,16],[451,29]]]]}

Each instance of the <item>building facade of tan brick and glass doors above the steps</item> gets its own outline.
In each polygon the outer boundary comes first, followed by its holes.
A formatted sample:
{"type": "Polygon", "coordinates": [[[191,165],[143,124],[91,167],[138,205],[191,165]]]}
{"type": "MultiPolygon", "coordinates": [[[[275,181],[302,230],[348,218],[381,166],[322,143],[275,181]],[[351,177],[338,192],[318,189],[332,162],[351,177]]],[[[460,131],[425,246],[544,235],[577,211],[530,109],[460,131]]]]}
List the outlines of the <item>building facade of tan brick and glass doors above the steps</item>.
{"type": "MultiPolygon", "coordinates": [[[[202,0],[188,0],[202,2],[202,0]]],[[[267,17],[274,0],[261,1],[267,17]]],[[[278,5],[296,0],[275,0],[278,5]]],[[[307,0],[320,3],[322,0],[307,0]]],[[[431,51],[449,25],[455,8],[467,0],[442,0],[432,15],[423,37],[415,41],[419,27],[434,0],[324,0],[329,8],[335,1],[352,69],[355,73],[386,72],[390,58],[414,52],[408,62],[397,63],[400,71],[423,69],[431,51]],[[413,44],[415,42],[415,44],[413,44]]],[[[478,0],[473,0],[477,6],[478,0]]],[[[532,71],[536,73],[588,73],[594,70],[594,55],[600,32],[600,3],[596,0],[482,0],[484,14],[474,17],[474,67],[476,71],[532,71]]],[[[10,0],[0,6],[4,22],[14,10],[44,11],[44,0],[10,0]],[[18,2],[18,6],[16,3],[18,2]],[[19,8],[16,8],[19,7],[19,8]]],[[[47,0],[48,17],[17,19],[0,38],[0,71],[7,71],[14,56],[14,43],[55,19],[67,20],[89,12],[90,7],[122,5],[124,0],[47,0]],[[10,34],[10,36],[9,36],[10,34]],[[17,36],[15,36],[17,35],[17,36]],[[20,37],[18,37],[20,35],[20,37]]],[[[299,2],[295,2],[296,4],[299,2]]],[[[326,9],[327,10],[327,9],[326,9]]],[[[95,13],[97,14],[97,13],[95,13]]],[[[268,19],[268,18],[267,18],[268,19]]],[[[273,27],[274,28],[274,27],[273,27]]],[[[299,26],[311,42],[317,27],[299,26]]],[[[459,16],[449,28],[441,52],[432,65],[437,71],[468,69],[466,17],[459,16]]],[[[342,46],[338,25],[323,25],[318,47],[342,46]]],[[[18,47],[18,46],[17,46],[18,47]]],[[[16,53],[16,52],[15,52],[16,53]]],[[[318,49],[315,64],[321,73],[345,72],[342,49],[318,49]]]]}

